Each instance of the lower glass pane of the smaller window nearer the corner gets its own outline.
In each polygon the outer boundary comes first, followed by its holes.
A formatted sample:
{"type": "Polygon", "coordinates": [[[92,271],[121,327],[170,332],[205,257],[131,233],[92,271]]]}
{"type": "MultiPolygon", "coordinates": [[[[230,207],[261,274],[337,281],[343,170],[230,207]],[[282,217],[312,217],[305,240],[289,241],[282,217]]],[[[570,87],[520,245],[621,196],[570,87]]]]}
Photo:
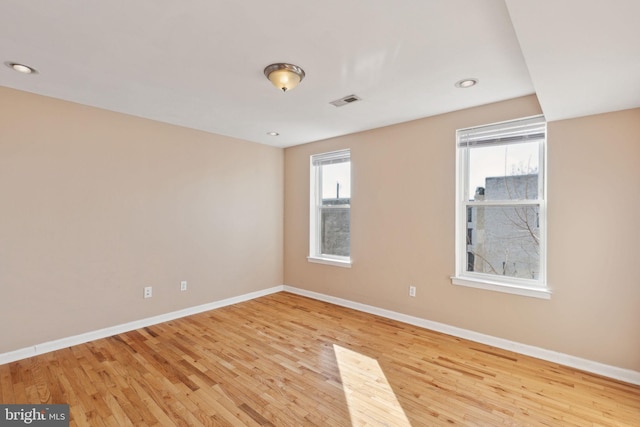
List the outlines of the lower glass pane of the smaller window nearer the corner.
{"type": "Polygon", "coordinates": [[[320,251],[324,255],[349,256],[349,208],[320,208],[320,251]]]}

